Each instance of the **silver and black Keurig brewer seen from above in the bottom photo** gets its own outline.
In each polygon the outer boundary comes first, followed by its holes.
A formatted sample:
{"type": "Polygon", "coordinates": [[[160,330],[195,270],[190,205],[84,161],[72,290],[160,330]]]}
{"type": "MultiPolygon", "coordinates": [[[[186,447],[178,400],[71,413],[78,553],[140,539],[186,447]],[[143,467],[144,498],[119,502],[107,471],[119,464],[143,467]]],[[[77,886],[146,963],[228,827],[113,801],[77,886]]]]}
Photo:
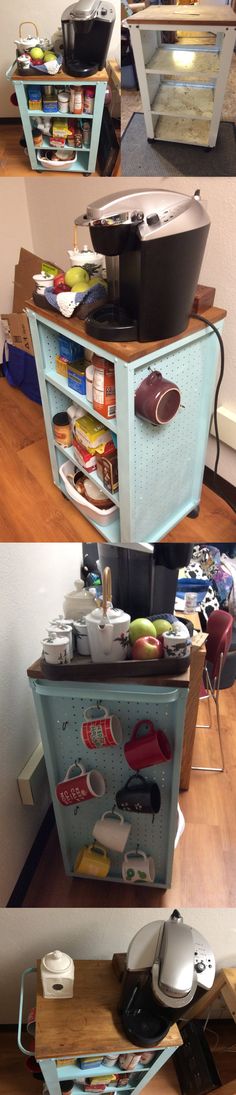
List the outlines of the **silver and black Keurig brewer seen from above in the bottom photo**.
{"type": "Polygon", "coordinates": [[[155,1046],[179,1019],[196,992],[211,989],[215,960],[210,944],[174,910],[170,920],[141,927],[127,954],[120,1015],[134,1046],[155,1046]]]}

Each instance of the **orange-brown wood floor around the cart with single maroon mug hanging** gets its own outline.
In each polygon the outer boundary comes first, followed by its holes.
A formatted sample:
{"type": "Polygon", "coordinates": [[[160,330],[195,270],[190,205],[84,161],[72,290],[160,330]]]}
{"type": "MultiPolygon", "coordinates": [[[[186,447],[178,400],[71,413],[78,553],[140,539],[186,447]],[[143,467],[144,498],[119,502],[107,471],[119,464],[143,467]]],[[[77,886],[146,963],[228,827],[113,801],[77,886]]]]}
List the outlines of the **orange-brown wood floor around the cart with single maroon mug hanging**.
{"type": "MultiPolygon", "coordinates": [[[[52,483],[43,411],[7,380],[0,379],[1,492],[0,540],[3,542],[102,541],[52,483]]],[[[188,517],[167,541],[234,541],[236,516],[229,506],[203,486],[197,520],[188,517]]]]}

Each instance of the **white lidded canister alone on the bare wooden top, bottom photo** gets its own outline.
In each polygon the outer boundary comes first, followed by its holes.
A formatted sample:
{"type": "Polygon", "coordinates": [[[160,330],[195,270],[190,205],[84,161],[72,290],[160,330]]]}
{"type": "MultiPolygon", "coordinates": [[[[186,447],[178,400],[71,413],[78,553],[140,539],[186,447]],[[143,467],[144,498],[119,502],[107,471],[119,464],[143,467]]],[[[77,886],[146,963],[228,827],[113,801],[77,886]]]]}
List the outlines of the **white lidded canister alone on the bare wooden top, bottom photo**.
{"type": "Polygon", "coordinates": [[[62,950],[51,950],[42,958],[40,976],[44,996],[70,1000],[73,996],[74,964],[62,950]]]}

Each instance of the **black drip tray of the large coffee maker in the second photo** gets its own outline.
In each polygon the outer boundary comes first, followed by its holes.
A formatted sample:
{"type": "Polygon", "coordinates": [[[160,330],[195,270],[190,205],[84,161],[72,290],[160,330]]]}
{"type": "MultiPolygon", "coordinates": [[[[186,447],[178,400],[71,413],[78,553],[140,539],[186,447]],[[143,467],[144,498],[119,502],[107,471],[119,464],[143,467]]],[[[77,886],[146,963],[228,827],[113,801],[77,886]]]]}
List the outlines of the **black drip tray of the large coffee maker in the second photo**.
{"type": "Polygon", "coordinates": [[[85,331],[94,338],[106,342],[133,342],[138,338],[138,324],[117,301],[94,308],[85,321],[85,331]]]}

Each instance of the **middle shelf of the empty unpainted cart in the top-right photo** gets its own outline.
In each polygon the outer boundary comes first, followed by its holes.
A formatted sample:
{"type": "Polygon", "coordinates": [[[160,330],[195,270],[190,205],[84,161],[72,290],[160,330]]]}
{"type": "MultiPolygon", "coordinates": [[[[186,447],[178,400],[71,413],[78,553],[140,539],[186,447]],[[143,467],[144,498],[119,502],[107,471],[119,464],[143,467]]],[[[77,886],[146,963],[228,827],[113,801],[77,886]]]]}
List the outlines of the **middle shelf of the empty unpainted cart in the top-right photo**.
{"type": "Polygon", "coordinates": [[[188,88],[187,85],[162,83],[152,103],[152,114],[168,117],[194,118],[209,122],[213,112],[211,88],[188,88]]]}

